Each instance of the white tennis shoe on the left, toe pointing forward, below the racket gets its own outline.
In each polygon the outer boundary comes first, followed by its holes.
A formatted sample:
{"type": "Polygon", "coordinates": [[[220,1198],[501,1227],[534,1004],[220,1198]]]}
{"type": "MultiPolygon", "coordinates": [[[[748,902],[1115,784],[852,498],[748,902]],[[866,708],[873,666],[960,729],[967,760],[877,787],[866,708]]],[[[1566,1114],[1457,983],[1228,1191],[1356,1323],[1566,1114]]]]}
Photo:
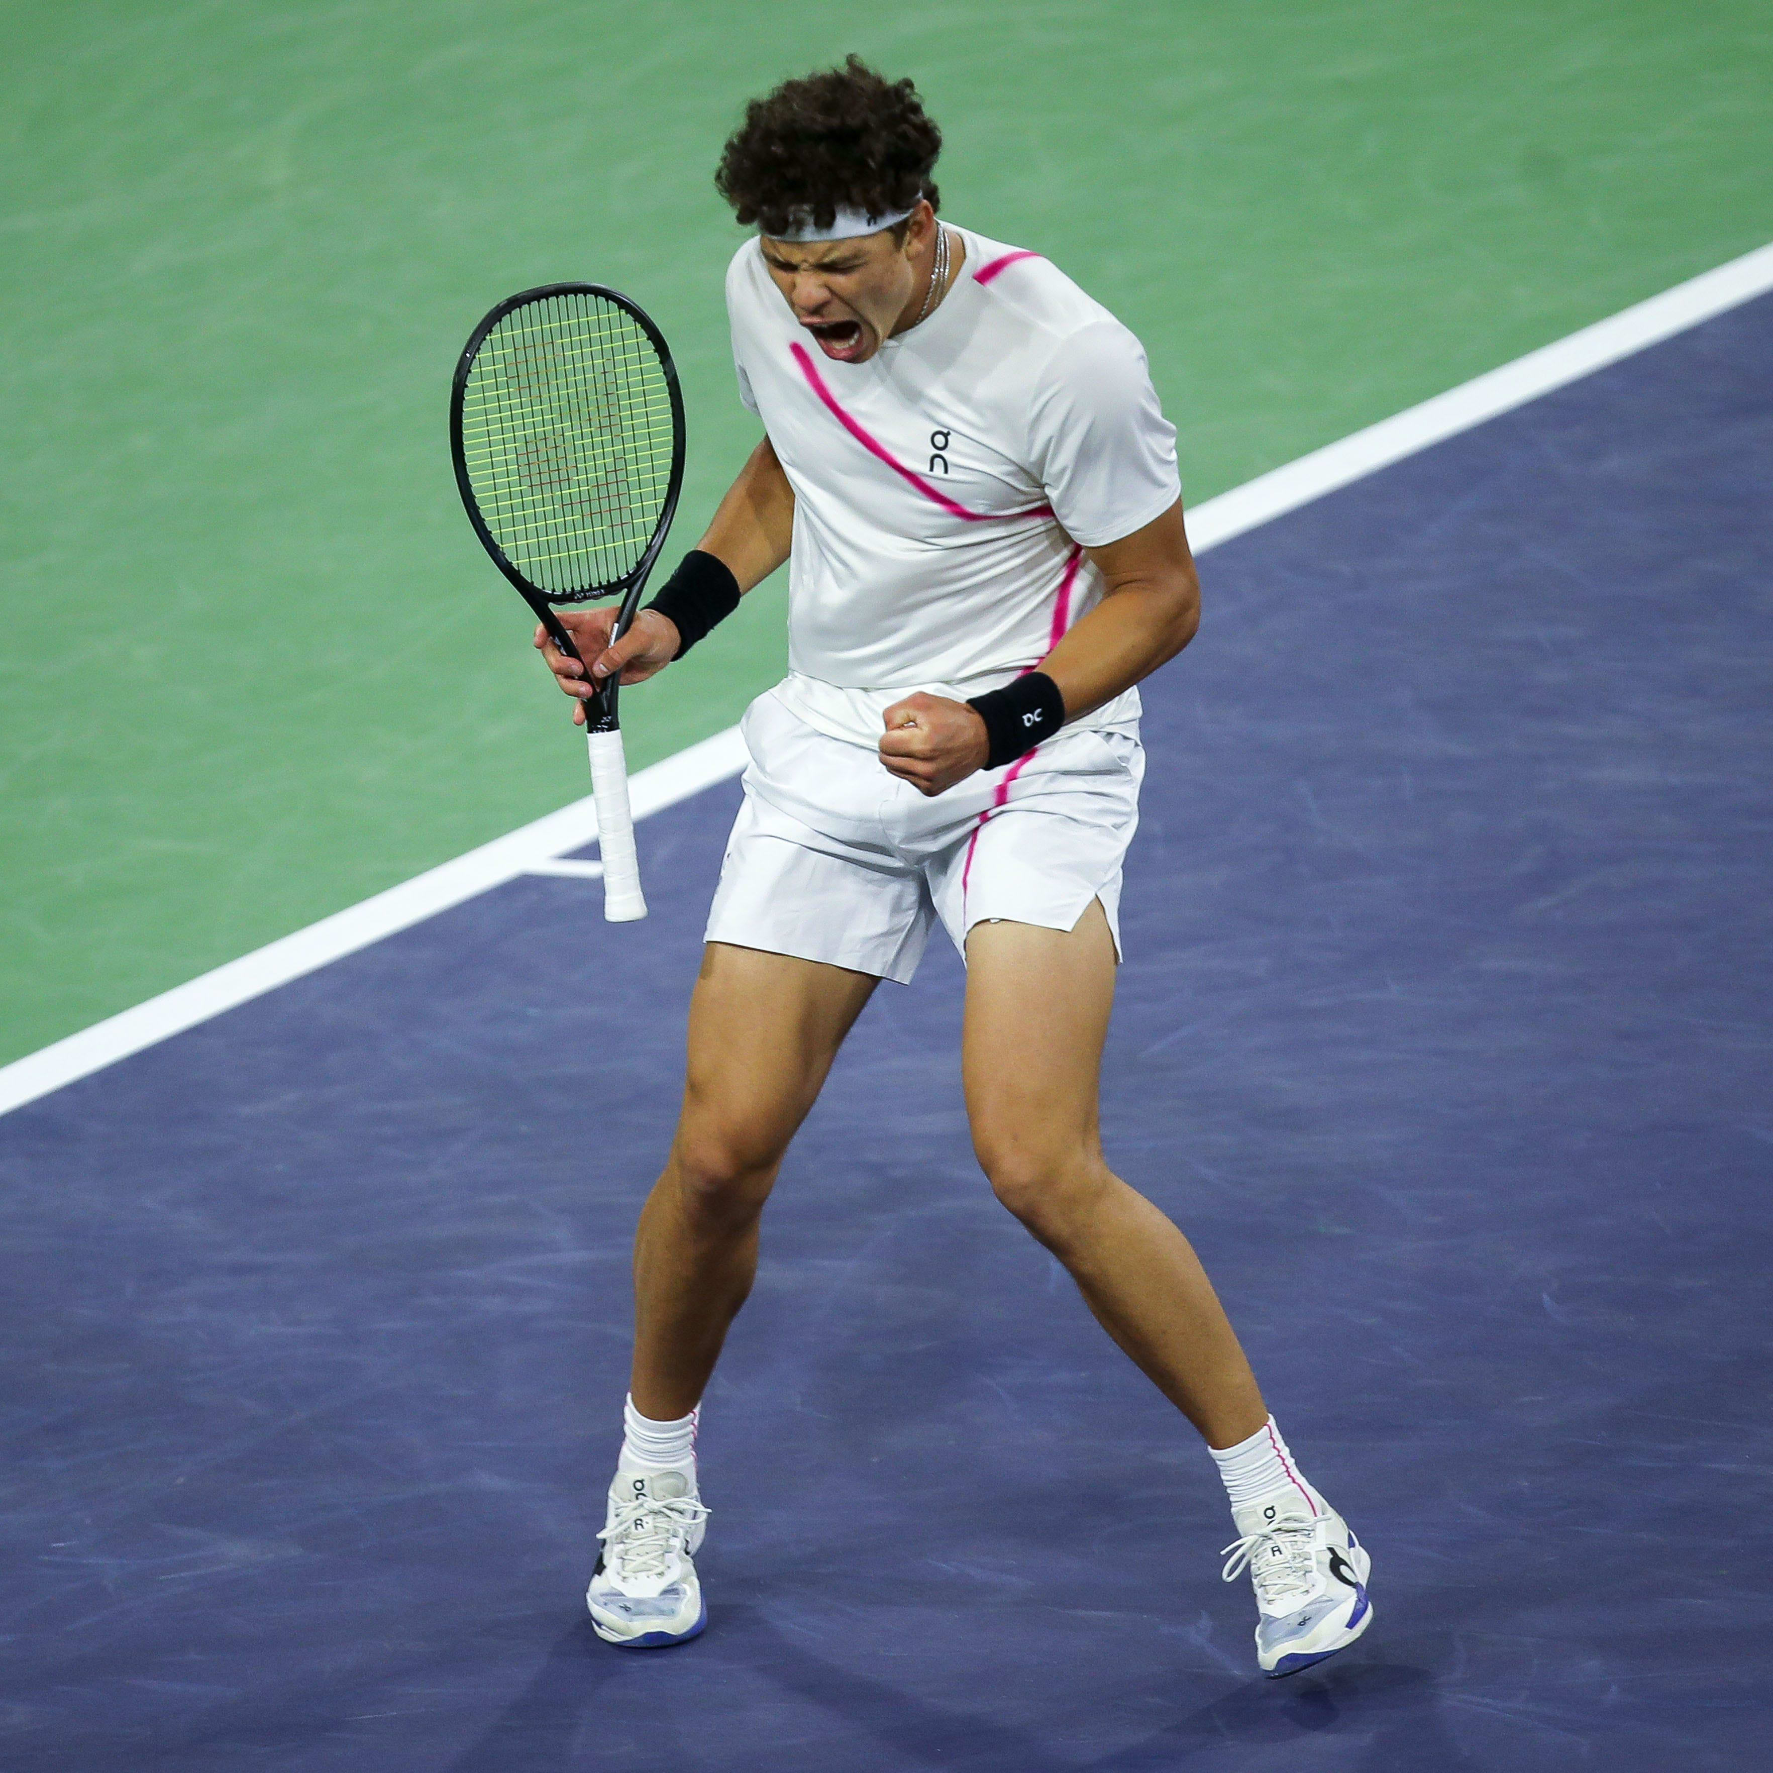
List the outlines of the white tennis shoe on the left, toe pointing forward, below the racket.
{"type": "Polygon", "coordinates": [[[695,1551],[707,1509],[686,1472],[617,1472],[585,1605],[606,1644],[683,1644],[707,1624],[695,1551]]]}

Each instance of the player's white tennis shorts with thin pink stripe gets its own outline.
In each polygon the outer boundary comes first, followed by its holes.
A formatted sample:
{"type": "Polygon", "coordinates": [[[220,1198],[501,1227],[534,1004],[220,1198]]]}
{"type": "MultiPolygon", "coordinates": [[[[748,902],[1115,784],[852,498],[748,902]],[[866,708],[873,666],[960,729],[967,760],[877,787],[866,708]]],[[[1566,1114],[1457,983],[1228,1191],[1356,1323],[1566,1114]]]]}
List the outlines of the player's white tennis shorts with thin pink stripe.
{"type": "Polygon", "coordinates": [[[1101,899],[1119,952],[1145,773],[1131,732],[1066,727],[934,798],[773,691],[741,732],[752,762],[706,940],[910,984],[938,917],[965,957],[973,924],[1074,929],[1101,899]]]}

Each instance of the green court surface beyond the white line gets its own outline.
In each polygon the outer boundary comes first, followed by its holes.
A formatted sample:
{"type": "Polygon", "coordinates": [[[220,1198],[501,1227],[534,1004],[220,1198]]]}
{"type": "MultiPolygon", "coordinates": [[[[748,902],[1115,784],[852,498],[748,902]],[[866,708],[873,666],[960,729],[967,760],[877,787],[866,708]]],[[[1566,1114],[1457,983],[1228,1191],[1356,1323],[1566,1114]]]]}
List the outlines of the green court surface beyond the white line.
{"type": "MultiPolygon", "coordinates": [[[[631,291],[690,410],[667,560],[693,543],[754,436],[709,172],[784,74],[855,48],[918,80],[945,211],[1145,339],[1193,500],[1773,236],[1755,4],[7,25],[0,1060],[585,793],[456,504],[449,371],[512,289],[631,291]]],[[[730,723],[782,651],[777,582],[629,697],[631,761],[730,723]]]]}

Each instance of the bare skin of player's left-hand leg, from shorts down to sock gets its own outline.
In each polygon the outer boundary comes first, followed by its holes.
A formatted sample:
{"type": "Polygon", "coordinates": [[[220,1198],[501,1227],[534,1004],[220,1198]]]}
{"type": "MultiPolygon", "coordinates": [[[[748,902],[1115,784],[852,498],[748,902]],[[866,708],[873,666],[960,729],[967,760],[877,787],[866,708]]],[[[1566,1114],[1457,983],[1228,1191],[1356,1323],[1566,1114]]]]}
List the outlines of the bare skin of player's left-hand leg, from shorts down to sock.
{"type": "Polygon", "coordinates": [[[879,980],[711,941],[690,998],[683,1112],[635,1238],[642,1415],[688,1415],[757,1273],[757,1227],[789,1140],[879,980]]]}

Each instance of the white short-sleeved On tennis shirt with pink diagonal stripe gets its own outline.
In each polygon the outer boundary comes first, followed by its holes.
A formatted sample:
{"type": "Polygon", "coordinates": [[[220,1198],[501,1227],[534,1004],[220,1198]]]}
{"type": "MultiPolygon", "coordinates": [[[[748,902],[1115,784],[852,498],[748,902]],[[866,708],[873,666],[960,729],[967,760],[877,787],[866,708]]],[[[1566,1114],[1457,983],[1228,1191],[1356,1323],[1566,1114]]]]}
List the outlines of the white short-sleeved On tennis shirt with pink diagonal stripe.
{"type": "MultiPolygon", "coordinates": [[[[1037,665],[1101,599],[1083,548],[1181,496],[1138,339],[1037,254],[954,232],[949,294],[867,363],[824,356],[755,239],[727,269],[739,397],[794,488],[777,695],[867,746],[911,690],[965,700],[1037,665]]],[[[1136,718],[1128,690],[1080,725],[1136,718]]]]}

